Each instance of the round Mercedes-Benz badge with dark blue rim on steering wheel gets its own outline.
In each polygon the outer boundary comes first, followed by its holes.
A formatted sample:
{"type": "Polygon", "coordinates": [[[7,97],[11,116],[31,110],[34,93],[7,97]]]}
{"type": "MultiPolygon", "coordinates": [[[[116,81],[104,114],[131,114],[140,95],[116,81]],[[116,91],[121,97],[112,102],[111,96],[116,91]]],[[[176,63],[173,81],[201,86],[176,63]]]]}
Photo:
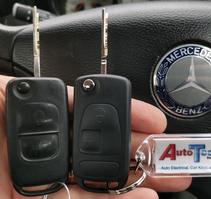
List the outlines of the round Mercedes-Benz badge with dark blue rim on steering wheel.
{"type": "Polygon", "coordinates": [[[153,95],[169,113],[196,117],[211,109],[211,49],[197,44],[178,46],[158,63],[153,95]]]}

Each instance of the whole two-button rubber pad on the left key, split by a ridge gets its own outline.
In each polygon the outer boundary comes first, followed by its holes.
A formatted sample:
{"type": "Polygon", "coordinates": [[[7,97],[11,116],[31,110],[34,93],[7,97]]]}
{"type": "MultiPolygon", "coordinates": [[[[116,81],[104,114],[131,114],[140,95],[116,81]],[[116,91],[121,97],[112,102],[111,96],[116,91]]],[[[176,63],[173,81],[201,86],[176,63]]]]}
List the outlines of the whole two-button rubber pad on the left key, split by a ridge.
{"type": "Polygon", "coordinates": [[[25,104],[16,118],[23,159],[41,161],[56,156],[59,149],[59,111],[54,104],[25,104]]]}

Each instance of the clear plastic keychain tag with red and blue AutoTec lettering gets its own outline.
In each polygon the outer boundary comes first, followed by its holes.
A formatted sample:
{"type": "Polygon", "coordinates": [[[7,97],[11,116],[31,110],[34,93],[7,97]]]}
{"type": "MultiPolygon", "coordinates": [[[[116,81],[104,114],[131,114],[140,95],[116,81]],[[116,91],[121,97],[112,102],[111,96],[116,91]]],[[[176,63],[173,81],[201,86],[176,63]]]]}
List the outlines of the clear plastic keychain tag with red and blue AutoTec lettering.
{"type": "Polygon", "coordinates": [[[135,159],[152,177],[211,176],[211,134],[151,135],[135,159]]]}

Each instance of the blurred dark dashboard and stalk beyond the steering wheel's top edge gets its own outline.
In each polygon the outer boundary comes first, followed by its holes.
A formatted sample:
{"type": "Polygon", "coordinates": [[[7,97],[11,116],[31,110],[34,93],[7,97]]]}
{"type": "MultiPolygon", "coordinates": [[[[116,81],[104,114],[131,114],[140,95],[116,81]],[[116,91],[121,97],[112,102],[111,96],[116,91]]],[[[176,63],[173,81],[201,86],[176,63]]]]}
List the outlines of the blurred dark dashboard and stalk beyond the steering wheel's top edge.
{"type": "MultiPolygon", "coordinates": [[[[31,9],[34,5],[40,9],[40,15],[42,16],[42,19],[45,20],[59,15],[70,14],[102,6],[143,1],[158,0],[0,0],[0,23],[10,26],[31,23],[32,16],[30,16],[30,13],[32,13],[31,9]],[[22,5],[22,8],[17,9],[17,6],[15,6],[17,3],[20,7],[22,5]]],[[[42,19],[40,20],[42,21],[42,19]]]]}

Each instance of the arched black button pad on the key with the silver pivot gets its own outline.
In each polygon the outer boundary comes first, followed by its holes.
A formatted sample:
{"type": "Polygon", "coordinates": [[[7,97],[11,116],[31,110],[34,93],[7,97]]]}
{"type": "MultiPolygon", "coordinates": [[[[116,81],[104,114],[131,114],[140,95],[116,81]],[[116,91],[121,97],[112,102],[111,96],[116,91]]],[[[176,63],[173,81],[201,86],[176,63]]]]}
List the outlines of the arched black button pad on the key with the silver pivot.
{"type": "Polygon", "coordinates": [[[80,124],[80,138],[83,153],[120,154],[122,136],[117,109],[110,104],[87,106],[80,124]]]}

